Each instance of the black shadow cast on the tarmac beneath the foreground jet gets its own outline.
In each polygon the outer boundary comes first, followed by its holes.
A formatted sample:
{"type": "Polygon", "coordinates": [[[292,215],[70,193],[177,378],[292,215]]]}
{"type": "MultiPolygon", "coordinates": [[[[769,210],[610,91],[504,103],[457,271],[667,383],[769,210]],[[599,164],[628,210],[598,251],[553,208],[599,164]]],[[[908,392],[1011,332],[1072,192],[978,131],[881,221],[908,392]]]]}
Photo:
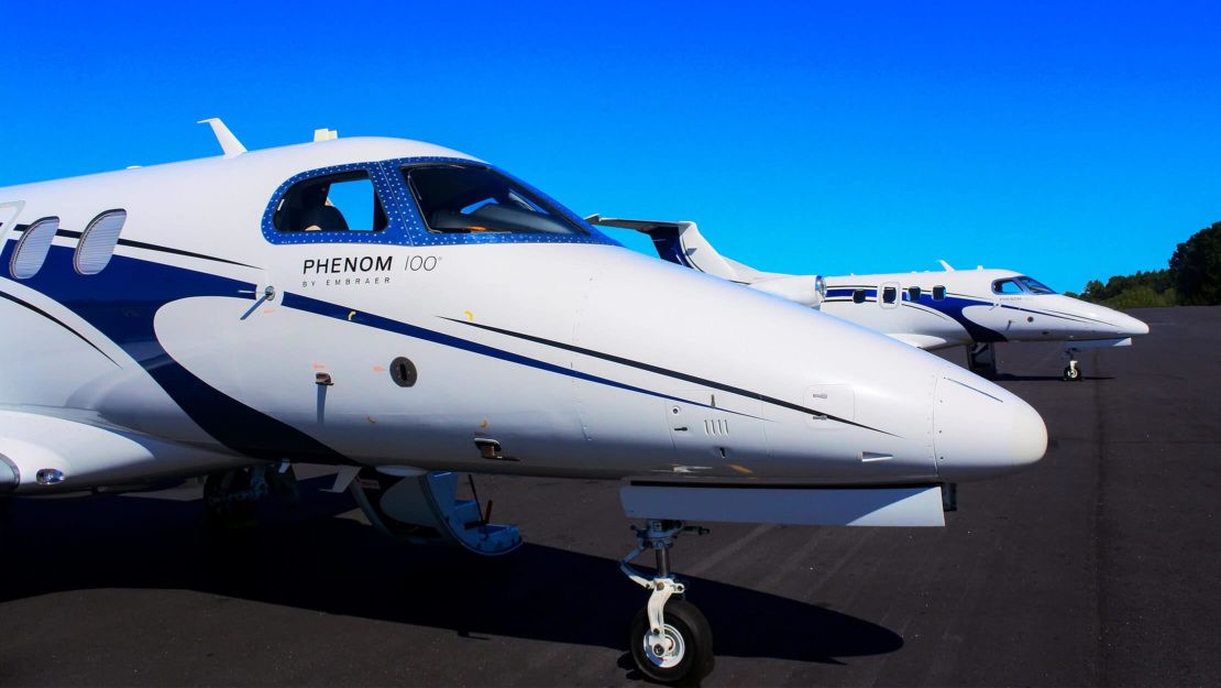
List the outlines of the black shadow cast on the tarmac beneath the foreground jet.
{"type": "MultiPolygon", "coordinates": [[[[347,495],[303,490],[258,528],[217,533],[198,501],[122,496],[15,501],[0,532],[0,600],[98,588],[190,589],[433,628],[626,649],[646,595],[617,562],[525,544],[475,560],[396,544],[335,518],[347,495]]],[[[841,664],[904,640],[874,623],[716,580],[689,578],[722,656],[841,664]]],[[[186,623],[189,623],[187,621],[186,623]]]]}

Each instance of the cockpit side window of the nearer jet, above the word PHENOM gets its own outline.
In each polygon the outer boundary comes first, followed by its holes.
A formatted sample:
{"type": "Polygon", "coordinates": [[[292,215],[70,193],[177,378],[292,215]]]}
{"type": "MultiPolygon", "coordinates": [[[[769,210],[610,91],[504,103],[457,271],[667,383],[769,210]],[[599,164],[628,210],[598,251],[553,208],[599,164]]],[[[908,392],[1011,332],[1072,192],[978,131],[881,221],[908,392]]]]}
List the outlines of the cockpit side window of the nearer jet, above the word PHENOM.
{"type": "Polygon", "coordinates": [[[280,199],[272,222],[281,232],[380,232],[388,224],[364,170],[297,182],[280,199]]]}

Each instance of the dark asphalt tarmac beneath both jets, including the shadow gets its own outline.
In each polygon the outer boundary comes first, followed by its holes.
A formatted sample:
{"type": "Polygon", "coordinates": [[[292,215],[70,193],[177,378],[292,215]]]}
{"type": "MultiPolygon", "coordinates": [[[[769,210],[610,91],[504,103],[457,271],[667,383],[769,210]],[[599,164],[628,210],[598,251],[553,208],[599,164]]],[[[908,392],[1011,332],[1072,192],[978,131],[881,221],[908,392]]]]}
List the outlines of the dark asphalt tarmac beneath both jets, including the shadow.
{"type": "MultiPolygon", "coordinates": [[[[1221,308],[1134,314],[1151,334],[1084,351],[1082,382],[1055,345],[1000,347],[1050,447],[962,485],[944,529],[681,538],[716,638],[705,686],[1221,684],[1221,308]]],[[[617,484],[480,479],[527,543],[488,565],[381,538],[328,483],[227,535],[193,483],[15,501],[0,686],[643,683],[617,484]]]]}

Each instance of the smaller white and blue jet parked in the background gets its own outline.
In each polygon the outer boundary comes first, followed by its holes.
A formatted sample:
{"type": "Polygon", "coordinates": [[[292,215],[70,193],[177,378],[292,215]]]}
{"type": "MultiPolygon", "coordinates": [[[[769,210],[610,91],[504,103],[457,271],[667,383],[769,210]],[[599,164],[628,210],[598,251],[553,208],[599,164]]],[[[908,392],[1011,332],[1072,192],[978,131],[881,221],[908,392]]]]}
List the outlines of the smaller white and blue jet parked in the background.
{"type": "Polygon", "coordinates": [[[990,378],[996,376],[996,342],[1062,341],[1063,379],[1079,380],[1078,349],[1131,346],[1132,337],[1149,334],[1149,325],[1131,315],[1056,293],[1012,270],[955,270],[943,260],[940,273],[761,273],[720,255],[695,222],[586,220],[648,235],[670,263],[817,307],[918,348],[966,346],[971,370],[990,378]]]}

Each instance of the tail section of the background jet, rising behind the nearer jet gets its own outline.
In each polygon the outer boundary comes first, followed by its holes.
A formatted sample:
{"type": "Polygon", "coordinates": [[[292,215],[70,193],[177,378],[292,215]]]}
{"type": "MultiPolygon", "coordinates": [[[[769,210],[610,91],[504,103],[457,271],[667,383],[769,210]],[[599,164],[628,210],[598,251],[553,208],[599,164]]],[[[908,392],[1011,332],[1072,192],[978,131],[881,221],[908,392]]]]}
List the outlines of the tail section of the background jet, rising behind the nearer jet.
{"type": "Polygon", "coordinates": [[[762,292],[817,308],[823,301],[822,277],[818,275],[785,275],[763,273],[725,258],[700,233],[691,221],[626,220],[590,215],[585,221],[604,227],[635,230],[648,235],[663,260],[691,268],[714,277],[747,285],[762,292]]]}

